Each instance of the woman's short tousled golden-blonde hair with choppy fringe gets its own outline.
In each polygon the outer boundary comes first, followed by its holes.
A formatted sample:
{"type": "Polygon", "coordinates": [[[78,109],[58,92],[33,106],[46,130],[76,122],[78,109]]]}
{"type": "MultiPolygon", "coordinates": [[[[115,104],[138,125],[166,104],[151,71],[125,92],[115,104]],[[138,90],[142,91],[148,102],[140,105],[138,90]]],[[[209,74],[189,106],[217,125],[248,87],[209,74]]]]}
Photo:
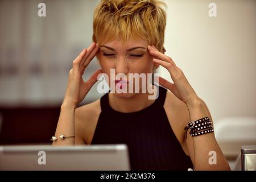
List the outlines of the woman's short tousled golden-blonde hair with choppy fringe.
{"type": "Polygon", "coordinates": [[[146,39],[163,50],[166,3],[160,0],[101,0],[93,15],[93,42],[146,39]]]}

